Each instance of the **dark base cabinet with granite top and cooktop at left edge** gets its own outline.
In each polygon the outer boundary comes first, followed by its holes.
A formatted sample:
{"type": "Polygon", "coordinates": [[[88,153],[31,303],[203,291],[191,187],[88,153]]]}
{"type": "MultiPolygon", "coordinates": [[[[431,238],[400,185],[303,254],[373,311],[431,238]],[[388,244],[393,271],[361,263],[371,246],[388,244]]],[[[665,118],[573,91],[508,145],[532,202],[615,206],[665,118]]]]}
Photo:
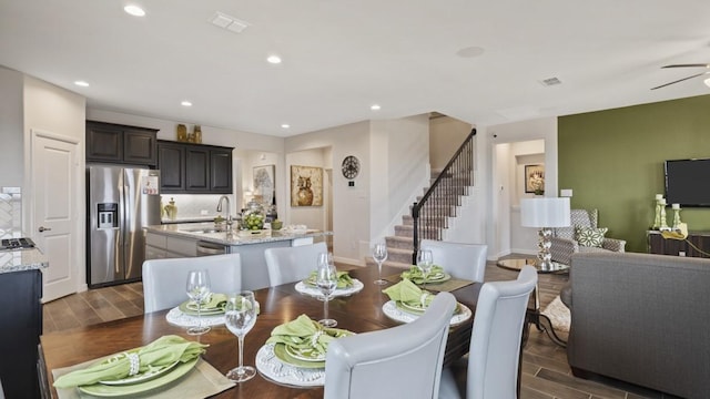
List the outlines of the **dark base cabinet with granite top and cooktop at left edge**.
{"type": "MultiPolygon", "coordinates": [[[[20,237],[9,234],[6,237],[20,237]]],[[[0,380],[8,398],[37,398],[37,346],[42,334],[42,273],[38,248],[0,250],[0,380]]]]}

